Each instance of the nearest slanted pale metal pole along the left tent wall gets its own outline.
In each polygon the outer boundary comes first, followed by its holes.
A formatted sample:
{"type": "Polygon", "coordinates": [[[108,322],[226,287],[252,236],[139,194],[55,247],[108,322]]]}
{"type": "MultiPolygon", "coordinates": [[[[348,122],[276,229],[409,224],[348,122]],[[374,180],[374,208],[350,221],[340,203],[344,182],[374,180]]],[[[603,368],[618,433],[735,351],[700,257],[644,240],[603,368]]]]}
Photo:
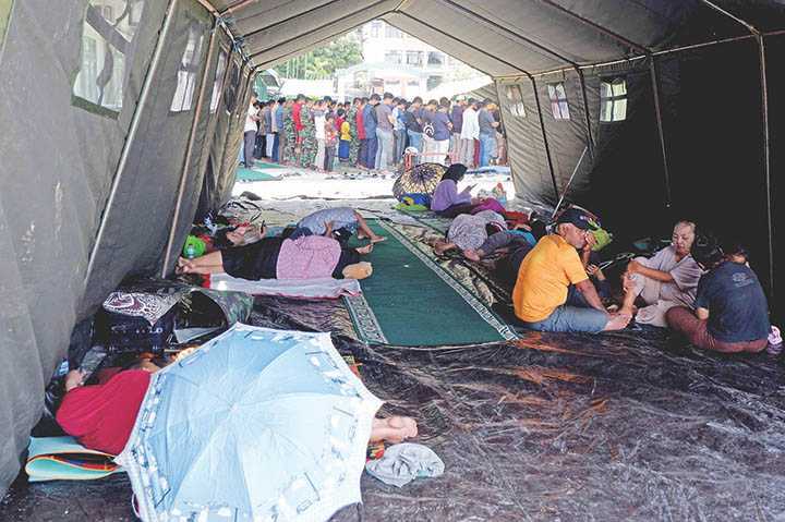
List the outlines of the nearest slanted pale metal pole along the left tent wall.
{"type": "Polygon", "coordinates": [[[164,26],[161,27],[161,32],[158,35],[158,41],[156,41],[155,51],[153,52],[153,60],[147,68],[147,74],[145,75],[144,83],[142,85],[142,92],[140,93],[140,98],[136,102],[136,108],[134,109],[134,113],[131,119],[131,126],[129,129],[128,136],[125,136],[125,142],[123,143],[123,149],[120,154],[120,160],[118,161],[117,169],[114,170],[114,179],[112,180],[111,190],[109,191],[109,198],[107,199],[106,206],[104,207],[104,214],[101,215],[100,224],[98,226],[98,234],[96,235],[95,243],[93,243],[93,248],[90,250],[90,254],[87,260],[87,270],[84,278],[85,283],[89,281],[89,278],[93,275],[93,268],[95,268],[96,254],[98,253],[98,248],[100,247],[101,241],[104,239],[104,233],[106,232],[109,214],[111,211],[112,205],[114,204],[118,187],[120,186],[120,179],[122,178],[122,173],[125,170],[125,163],[128,162],[129,155],[131,154],[131,146],[134,143],[136,133],[138,132],[140,121],[142,120],[142,112],[147,105],[147,97],[149,96],[153,78],[156,76],[158,65],[161,61],[161,56],[164,54],[165,43],[169,37],[169,31],[174,20],[174,11],[177,8],[177,3],[178,0],[169,0],[169,7],[167,8],[167,12],[164,15],[164,26]]]}

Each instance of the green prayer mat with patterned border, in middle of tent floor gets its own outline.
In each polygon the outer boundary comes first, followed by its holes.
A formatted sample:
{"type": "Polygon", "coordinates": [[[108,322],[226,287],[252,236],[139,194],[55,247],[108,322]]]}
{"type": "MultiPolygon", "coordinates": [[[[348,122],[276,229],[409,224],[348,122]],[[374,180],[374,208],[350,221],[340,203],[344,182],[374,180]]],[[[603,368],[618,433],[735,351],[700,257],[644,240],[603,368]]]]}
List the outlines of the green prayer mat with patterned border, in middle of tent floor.
{"type": "Polygon", "coordinates": [[[367,343],[480,344],[517,339],[514,330],[449,272],[389,223],[369,220],[387,241],[367,260],[363,292],[343,298],[354,329],[367,343]]]}

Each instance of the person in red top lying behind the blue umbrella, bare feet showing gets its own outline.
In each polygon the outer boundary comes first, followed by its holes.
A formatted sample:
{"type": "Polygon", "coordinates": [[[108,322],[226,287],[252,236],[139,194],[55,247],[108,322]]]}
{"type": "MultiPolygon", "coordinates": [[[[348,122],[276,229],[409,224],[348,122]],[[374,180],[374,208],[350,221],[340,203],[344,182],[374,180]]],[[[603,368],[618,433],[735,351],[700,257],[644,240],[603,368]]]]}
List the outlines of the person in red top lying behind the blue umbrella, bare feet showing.
{"type": "MultiPolygon", "coordinates": [[[[158,369],[150,361],[142,360],[125,371],[107,368],[99,384],[88,386],[78,369],[69,372],[65,397],[57,412],[58,424],[85,448],[119,454],[136,423],[150,375],[158,369]]],[[[411,417],[377,417],[369,442],[397,444],[416,435],[416,422],[411,417]]]]}

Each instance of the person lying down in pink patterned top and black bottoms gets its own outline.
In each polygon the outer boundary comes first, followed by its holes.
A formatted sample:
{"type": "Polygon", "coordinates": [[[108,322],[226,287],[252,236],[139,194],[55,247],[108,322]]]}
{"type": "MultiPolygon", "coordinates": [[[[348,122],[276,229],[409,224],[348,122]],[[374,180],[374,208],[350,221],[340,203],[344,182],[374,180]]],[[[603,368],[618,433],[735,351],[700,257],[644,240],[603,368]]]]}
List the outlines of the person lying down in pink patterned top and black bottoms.
{"type": "Polygon", "coordinates": [[[373,274],[361,256],[373,244],[343,247],[333,238],[306,235],[295,240],[265,238],[250,245],[210,252],[194,259],[180,257],[178,274],[220,274],[258,281],[259,279],[365,279],[373,274]]]}

